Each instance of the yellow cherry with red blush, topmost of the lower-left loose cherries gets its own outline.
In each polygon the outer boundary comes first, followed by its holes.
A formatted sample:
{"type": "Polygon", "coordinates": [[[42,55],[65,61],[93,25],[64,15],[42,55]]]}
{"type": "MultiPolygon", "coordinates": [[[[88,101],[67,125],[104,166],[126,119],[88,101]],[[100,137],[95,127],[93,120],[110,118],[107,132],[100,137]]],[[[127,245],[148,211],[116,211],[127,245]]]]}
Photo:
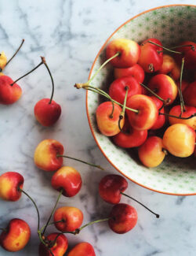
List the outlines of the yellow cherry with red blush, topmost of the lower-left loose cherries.
{"type": "Polygon", "coordinates": [[[34,164],[44,171],[56,171],[63,165],[63,158],[57,155],[64,154],[64,146],[56,139],[45,139],[34,150],[34,164]]]}

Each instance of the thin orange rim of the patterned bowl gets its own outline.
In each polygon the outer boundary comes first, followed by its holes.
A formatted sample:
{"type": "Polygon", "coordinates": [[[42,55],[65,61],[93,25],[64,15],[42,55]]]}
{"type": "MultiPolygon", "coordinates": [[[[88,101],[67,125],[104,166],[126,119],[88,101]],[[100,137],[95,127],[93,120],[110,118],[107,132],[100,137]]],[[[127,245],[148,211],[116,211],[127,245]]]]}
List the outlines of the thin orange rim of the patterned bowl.
{"type": "MultiPolygon", "coordinates": [[[[96,58],[94,59],[93,61],[93,65],[90,69],[90,72],[89,72],[89,77],[88,77],[88,80],[90,79],[90,76],[93,72],[93,68],[94,68],[94,65],[96,64],[96,61],[97,59],[99,58],[100,56],[100,53],[101,51],[103,50],[103,48],[105,48],[105,46],[107,45],[108,41],[111,39],[111,37],[116,33],[118,32],[118,30],[120,28],[122,28],[125,24],[129,23],[131,20],[135,19],[136,17],[140,17],[141,15],[143,15],[144,13],[149,13],[155,9],[162,9],[162,8],[166,8],[166,7],[175,7],[175,6],[191,6],[191,7],[196,7],[196,5],[189,5],[189,4],[176,4],[176,5],[167,5],[167,6],[158,6],[158,7],[154,7],[154,8],[151,8],[151,9],[147,9],[146,11],[143,11],[142,13],[139,13],[137,14],[136,16],[130,18],[129,20],[126,20],[122,25],[120,25],[118,28],[116,28],[114,30],[114,32],[106,39],[105,43],[103,43],[103,46],[101,46],[98,54],[96,54],[96,58]]],[[[133,180],[131,179],[129,176],[125,175],[124,173],[122,173],[122,171],[120,169],[118,169],[114,163],[109,159],[107,158],[107,155],[104,153],[102,147],[100,147],[100,143],[98,142],[98,140],[96,139],[96,135],[95,135],[95,132],[93,130],[93,126],[91,124],[91,121],[90,121],[90,117],[89,117],[89,108],[88,108],[88,91],[86,91],[86,95],[85,95],[85,109],[86,109],[86,114],[87,114],[87,118],[88,118],[88,121],[89,121],[89,127],[90,127],[90,130],[92,132],[92,135],[93,135],[93,138],[95,139],[96,141],[96,145],[99,147],[100,151],[102,152],[103,156],[107,159],[107,161],[109,161],[109,163],[114,167],[114,169],[116,169],[119,173],[121,173],[123,176],[125,176],[128,180],[131,180],[132,182],[134,182],[135,184],[137,185],[140,185],[141,187],[144,187],[144,188],[147,188],[148,190],[151,190],[151,191],[154,191],[154,192],[158,192],[158,193],[161,193],[161,194],[165,194],[165,195],[196,195],[196,192],[195,193],[188,193],[188,194],[179,194],[179,193],[170,193],[170,192],[166,192],[166,191],[158,191],[156,189],[153,189],[151,187],[147,187],[147,186],[144,186],[143,184],[140,184],[138,183],[136,180],[133,180]]]]}

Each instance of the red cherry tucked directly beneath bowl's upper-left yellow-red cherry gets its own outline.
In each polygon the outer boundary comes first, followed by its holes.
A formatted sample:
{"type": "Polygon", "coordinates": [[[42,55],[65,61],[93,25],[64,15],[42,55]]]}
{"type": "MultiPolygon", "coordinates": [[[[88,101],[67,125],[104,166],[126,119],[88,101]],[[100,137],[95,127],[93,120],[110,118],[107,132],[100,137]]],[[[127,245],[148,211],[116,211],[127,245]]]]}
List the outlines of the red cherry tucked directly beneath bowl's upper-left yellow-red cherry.
{"type": "Polygon", "coordinates": [[[114,69],[114,78],[118,79],[124,76],[132,76],[134,77],[138,83],[143,83],[145,73],[143,68],[136,64],[127,69],[114,69]]]}

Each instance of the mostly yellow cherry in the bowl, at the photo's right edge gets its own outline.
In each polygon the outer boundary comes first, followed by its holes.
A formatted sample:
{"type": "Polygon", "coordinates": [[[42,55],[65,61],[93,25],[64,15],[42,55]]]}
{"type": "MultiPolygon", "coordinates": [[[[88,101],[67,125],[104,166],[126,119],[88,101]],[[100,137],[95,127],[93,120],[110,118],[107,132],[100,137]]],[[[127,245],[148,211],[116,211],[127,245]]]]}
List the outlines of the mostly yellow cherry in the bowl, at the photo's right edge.
{"type": "Polygon", "coordinates": [[[163,145],[169,153],[187,158],[194,153],[195,132],[187,124],[172,124],[163,135],[163,145]]]}

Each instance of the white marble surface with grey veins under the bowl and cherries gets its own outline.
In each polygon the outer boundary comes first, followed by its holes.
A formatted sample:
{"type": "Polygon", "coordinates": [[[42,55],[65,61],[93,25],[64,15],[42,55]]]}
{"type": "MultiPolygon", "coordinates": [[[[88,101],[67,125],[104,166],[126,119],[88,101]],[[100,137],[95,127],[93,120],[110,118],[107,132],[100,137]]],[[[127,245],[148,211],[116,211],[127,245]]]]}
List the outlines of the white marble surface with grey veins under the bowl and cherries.
{"type": "MultiPolygon", "coordinates": [[[[60,121],[53,128],[42,128],[34,120],[34,104],[49,97],[51,81],[44,66],[20,81],[23,97],[13,106],[0,106],[0,174],[16,171],[24,176],[24,190],[38,203],[45,224],[58,193],[50,185],[52,174],[34,166],[34,148],[42,139],[53,138],[64,144],[66,154],[104,166],[107,173],[117,173],[96,147],[85,113],[85,92],[73,85],[85,82],[100,46],[114,29],[130,17],[156,6],[189,3],[175,0],[56,0],[7,1],[0,8],[1,50],[11,56],[21,39],[24,47],[5,73],[16,79],[45,56],[56,83],[54,99],[62,107],[60,121]]],[[[111,206],[98,195],[98,183],[104,172],[66,160],[82,175],[82,190],[74,198],[61,198],[59,206],[77,206],[84,213],[84,223],[107,217],[111,206]]],[[[117,235],[107,223],[85,228],[78,236],[67,236],[70,248],[89,241],[100,256],[173,256],[195,255],[196,221],[194,196],[177,197],[148,191],[129,181],[129,195],[145,202],[160,213],[158,220],[135,202],[136,228],[117,235]]],[[[22,196],[18,202],[0,201],[0,226],[10,219],[23,218],[31,226],[31,241],[24,250],[9,253],[0,248],[0,256],[38,255],[37,216],[31,202],[22,196]]],[[[49,232],[55,230],[49,228],[49,232]]]]}

